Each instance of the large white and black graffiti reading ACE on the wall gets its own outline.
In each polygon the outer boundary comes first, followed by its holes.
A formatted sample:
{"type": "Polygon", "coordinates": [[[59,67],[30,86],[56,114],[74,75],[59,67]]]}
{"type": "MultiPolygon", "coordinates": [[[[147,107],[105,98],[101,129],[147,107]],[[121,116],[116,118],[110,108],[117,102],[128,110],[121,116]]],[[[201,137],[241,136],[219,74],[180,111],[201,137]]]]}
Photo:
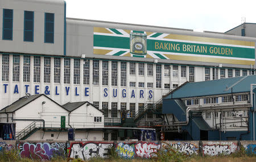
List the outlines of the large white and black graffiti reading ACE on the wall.
{"type": "Polygon", "coordinates": [[[90,159],[91,157],[99,156],[106,157],[109,155],[110,148],[113,143],[71,143],[68,147],[68,157],[80,158],[82,160],[90,159]]]}

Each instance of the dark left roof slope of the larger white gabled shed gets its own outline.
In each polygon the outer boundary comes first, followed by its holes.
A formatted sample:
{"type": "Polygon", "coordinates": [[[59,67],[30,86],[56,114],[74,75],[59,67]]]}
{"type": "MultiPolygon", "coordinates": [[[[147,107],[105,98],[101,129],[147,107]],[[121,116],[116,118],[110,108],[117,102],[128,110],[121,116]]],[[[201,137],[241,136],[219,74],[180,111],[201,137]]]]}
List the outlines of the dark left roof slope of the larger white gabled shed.
{"type": "Polygon", "coordinates": [[[5,108],[3,108],[0,113],[11,113],[14,112],[18,109],[20,109],[21,107],[27,105],[27,103],[30,103],[31,101],[34,101],[36,98],[40,97],[43,94],[35,94],[35,95],[26,95],[22,98],[19,98],[17,101],[15,101],[14,103],[12,103],[9,106],[6,106],[5,108]]]}

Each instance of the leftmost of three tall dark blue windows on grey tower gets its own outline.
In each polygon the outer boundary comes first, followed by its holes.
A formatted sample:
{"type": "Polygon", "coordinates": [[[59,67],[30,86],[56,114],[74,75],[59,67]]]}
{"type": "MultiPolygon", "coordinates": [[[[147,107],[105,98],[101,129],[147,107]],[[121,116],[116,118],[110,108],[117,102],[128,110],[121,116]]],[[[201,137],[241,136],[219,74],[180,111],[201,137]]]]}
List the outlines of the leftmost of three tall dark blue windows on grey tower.
{"type": "Polygon", "coordinates": [[[13,10],[3,9],[3,39],[13,40],[13,10]]]}

